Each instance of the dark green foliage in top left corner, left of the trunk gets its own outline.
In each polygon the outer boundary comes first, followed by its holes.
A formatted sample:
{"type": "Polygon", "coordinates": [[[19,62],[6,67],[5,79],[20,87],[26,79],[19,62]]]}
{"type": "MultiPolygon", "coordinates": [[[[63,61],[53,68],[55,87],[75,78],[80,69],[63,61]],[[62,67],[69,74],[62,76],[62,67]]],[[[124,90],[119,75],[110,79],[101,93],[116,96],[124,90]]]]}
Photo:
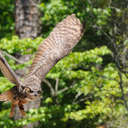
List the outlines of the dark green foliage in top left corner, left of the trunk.
{"type": "Polygon", "coordinates": [[[0,1],[0,38],[14,33],[14,1],[0,1]]]}

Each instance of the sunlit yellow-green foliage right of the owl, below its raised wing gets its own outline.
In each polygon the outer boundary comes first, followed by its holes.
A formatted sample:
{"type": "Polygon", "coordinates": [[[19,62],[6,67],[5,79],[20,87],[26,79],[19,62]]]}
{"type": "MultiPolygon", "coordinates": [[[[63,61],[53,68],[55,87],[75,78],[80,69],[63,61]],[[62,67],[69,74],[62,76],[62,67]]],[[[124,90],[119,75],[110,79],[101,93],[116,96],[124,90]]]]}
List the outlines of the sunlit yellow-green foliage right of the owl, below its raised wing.
{"type": "MultiPolygon", "coordinates": [[[[70,86],[67,85],[67,81],[70,81],[70,84],[74,83],[72,90],[67,90],[67,92],[72,95],[73,93],[80,94],[79,96],[84,99],[83,109],[79,105],[72,109],[72,106],[79,103],[80,99],[77,99],[76,96],[70,98],[70,103],[73,104],[70,106],[71,110],[65,112],[63,120],[79,121],[99,116],[98,123],[101,123],[109,118],[113,111],[118,111],[118,109],[114,110],[117,107],[117,102],[119,106],[122,106],[122,101],[118,99],[121,97],[121,93],[115,65],[111,63],[103,69],[97,68],[97,65],[102,65],[102,56],[106,54],[111,54],[111,52],[104,46],[83,53],[72,53],[60,61],[47,75],[49,79],[62,79],[59,83],[60,88],[65,85],[70,86]],[[80,69],[81,67],[84,67],[85,70],[80,69]]],[[[124,80],[126,81],[126,78],[124,80]]],[[[64,94],[60,94],[59,97],[61,100],[65,99],[64,94]]],[[[124,109],[123,106],[122,109],[124,109]]]]}

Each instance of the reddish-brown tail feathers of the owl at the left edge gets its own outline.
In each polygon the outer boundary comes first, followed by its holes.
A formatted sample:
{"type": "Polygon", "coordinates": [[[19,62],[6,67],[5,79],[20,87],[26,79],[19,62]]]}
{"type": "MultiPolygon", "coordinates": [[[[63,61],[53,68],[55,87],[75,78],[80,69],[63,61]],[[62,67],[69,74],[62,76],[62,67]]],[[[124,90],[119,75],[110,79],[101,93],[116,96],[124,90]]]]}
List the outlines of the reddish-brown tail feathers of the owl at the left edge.
{"type": "Polygon", "coordinates": [[[12,94],[11,94],[11,91],[6,91],[2,94],[0,94],[0,101],[10,101],[11,100],[11,97],[12,97],[12,94]]]}

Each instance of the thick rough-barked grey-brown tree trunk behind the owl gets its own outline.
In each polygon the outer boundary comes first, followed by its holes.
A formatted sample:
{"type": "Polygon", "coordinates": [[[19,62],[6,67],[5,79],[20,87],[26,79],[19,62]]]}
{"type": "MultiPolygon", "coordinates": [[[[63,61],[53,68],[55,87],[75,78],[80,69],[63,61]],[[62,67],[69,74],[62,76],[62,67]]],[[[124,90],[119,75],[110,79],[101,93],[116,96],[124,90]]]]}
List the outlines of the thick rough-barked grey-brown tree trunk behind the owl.
{"type": "MultiPolygon", "coordinates": [[[[41,32],[40,12],[38,5],[40,0],[16,0],[15,1],[15,31],[20,38],[36,38],[41,32]]],[[[40,99],[25,105],[25,110],[38,108],[40,99]]],[[[18,108],[16,108],[14,119],[21,118],[18,108]]],[[[38,123],[32,123],[24,128],[34,128],[38,123]]]]}

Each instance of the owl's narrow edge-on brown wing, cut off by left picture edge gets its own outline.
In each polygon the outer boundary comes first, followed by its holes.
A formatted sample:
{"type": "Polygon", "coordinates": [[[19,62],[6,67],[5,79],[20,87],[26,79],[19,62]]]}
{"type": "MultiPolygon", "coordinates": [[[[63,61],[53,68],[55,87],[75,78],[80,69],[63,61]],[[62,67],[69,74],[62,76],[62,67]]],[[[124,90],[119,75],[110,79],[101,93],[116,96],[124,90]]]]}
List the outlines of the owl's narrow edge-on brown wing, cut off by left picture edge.
{"type": "Polygon", "coordinates": [[[5,60],[5,58],[2,56],[2,53],[0,52],[0,70],[3,73],[3,75],[12,83],[16,84],[17,86],[19,85],[19,80],[5,60]]]}

